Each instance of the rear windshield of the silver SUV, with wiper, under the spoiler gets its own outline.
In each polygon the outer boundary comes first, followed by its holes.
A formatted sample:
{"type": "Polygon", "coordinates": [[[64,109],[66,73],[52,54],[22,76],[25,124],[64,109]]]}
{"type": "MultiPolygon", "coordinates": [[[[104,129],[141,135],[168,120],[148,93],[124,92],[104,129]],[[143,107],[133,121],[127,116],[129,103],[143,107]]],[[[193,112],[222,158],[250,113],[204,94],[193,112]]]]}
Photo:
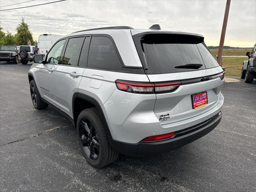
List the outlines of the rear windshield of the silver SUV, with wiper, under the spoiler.
{"type": "Polygon", "coordinates": [[[147,74],[202,70],[219,66],[203,38],[174,34],[146,34],[134,37],[147,74]]]}

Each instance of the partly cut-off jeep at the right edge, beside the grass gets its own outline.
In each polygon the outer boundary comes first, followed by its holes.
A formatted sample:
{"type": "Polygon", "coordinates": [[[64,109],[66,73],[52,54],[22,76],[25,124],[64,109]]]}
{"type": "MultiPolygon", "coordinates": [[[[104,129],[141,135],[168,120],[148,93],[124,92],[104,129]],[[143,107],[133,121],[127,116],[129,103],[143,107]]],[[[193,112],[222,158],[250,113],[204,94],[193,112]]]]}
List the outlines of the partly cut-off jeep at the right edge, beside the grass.
{"type": "Polygon", "coordinates": [[[248,60],[243,62],[241,71],[241,79],[244,79],[246,83],[252,83],[253,79],[256,78],[256,44],[252,49],[252,52],[246,52],[248,60]]]}

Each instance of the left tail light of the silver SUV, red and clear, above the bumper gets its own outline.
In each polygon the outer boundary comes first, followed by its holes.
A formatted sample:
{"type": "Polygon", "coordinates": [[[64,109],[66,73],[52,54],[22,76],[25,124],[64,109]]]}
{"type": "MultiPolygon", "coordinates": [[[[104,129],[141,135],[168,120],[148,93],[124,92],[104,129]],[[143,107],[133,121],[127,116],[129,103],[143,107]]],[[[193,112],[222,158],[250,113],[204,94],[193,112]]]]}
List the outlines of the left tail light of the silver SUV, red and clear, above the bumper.
{"type": "Polygon", "coordinates": [[[175,91],[181,84],[178,82],[162,82],[162,83],[148,83],[148,82],[132,82],[124,80],[116,80],[116,87],[118,90],[130,93],[166,93],[175,91]]]}

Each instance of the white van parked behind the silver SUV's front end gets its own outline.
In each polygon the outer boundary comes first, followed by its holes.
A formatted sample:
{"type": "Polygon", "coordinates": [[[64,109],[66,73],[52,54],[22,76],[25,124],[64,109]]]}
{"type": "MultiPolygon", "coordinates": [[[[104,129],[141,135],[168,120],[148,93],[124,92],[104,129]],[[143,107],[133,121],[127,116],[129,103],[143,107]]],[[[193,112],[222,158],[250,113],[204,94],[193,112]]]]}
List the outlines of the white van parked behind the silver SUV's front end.
{"type": "Polygon", "coordinates": [[[38,38],[37,50],[38,54],[46,54],[52,45],[61,38],[61,35],[56,34],[42,34],[38,38]]]}

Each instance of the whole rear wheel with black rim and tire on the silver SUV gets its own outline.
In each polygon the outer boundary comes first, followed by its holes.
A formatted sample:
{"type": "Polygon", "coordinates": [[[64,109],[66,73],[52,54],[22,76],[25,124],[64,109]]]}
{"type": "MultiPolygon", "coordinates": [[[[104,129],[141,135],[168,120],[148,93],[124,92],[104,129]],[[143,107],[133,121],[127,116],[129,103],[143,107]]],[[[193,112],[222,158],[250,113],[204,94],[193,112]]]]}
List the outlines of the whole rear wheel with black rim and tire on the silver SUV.
{"type": "Polygon", "coordinates": [[[110,146],[105,128],[95,108],[80,112],[76,129],[82,153],[93,167],[100,168],[116,160],[118,152],[110,146]]]}

